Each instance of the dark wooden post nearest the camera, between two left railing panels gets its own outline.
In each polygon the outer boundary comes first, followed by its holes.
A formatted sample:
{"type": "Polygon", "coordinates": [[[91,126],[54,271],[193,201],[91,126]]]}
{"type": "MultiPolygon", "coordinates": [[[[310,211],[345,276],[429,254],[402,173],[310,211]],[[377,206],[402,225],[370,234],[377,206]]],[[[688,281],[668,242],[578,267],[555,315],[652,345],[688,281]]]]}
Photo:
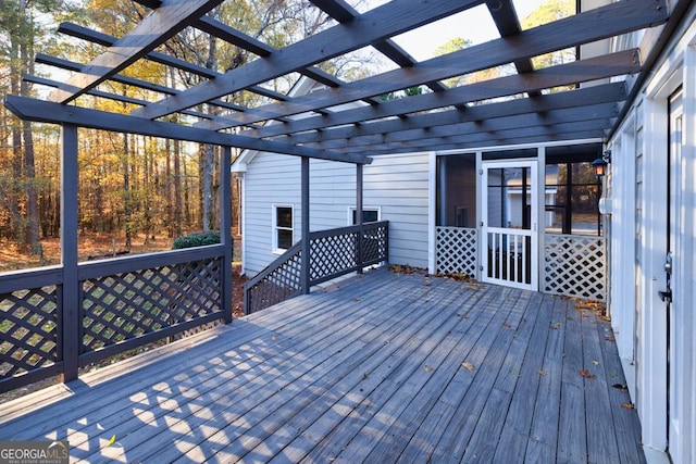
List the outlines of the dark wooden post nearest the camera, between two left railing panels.
{"type": "Polygon", "coordinates": [[[77,126],[63,124],[61,153],[61,263],[63,291],[61,313],[61,358],[63,381],[77,378],[82,344],[82,285],[77,277],[77,126]]]}

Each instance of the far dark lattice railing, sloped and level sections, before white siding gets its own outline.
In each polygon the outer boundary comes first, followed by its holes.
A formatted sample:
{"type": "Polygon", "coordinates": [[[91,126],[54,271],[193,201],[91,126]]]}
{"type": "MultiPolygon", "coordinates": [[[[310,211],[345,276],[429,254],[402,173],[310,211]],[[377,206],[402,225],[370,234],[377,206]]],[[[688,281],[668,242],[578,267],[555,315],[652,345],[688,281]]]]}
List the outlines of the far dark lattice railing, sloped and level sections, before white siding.
{"type": "MultiPolygon", "coordinates": [[[[340,227],[309,234],[311,287],[388,261],[387,221],[340,227]]],[[[302,241],[269,264],[245,285],[245,313],[251,314],[300,294],[302,283],[302,241]]]]}

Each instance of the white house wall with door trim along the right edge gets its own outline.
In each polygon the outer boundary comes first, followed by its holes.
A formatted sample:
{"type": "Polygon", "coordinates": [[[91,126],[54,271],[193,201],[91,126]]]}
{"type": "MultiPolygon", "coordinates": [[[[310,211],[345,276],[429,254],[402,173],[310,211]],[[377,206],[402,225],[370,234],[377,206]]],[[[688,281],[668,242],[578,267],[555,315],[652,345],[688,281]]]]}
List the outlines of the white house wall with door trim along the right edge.
{"type": "MultiPolygon", "coordinates": [[[[648,460],[669,453],[674,464],[696,462],[696,8],[668,45],[655,72],[613,136],[611,163],[611,298],[618,348],[629,367],[633,401],[643,426],[648,460]],[[679,437],[668,435],[668,318],[658,291],[667,287],[668,99],[683,89],[684,140],[678,167],[680,206],[675,225],[674,299],[671,313],[679,340],[669,366],[671,413],[679,437]],[[635,367],[635,379],[631,369],[635,367]]],[[[674,222],[673,222],[674,224],[674,222]]]]}

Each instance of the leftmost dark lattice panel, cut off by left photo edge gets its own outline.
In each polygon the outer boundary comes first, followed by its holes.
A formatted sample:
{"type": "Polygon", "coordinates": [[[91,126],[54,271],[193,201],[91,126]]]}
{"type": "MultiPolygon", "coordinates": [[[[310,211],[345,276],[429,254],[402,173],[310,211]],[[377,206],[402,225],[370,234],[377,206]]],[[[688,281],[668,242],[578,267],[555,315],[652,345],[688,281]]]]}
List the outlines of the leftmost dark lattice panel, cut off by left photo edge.
{"type": "Polygon", "coordinates": [[[0,294],[0,378],[59,361],[57,294],[54,285],[0,294]]]}

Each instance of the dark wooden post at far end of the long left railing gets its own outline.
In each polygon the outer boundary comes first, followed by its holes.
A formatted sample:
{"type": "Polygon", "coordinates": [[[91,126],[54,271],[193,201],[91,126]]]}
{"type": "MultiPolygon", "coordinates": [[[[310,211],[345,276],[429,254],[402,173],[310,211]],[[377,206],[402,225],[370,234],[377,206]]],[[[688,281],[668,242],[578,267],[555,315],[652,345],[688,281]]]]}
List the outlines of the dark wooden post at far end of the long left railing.
{"type": "Polygon", "coordinates": [[[222,259],[222,308],[225,322],[229,324],[232,315],[232,147],[222,148],[220,160],[220,243],[225,248],[222,259]]]}

